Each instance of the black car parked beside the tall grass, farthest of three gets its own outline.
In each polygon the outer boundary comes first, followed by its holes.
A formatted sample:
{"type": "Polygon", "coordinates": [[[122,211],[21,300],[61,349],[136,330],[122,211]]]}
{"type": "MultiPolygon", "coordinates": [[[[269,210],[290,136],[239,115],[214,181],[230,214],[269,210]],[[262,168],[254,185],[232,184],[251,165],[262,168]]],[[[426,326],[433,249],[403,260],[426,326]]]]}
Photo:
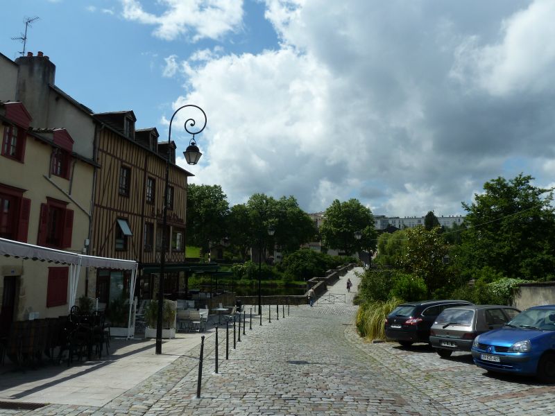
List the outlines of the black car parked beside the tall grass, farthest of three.
{"type": "Polygon", "coordinates": [[[466,300],[425,300],[397,306],[387,315],[386,338],[408,347],[413,343],[429,343],[429,329],[443,309],[471,305],[466,300]]]}

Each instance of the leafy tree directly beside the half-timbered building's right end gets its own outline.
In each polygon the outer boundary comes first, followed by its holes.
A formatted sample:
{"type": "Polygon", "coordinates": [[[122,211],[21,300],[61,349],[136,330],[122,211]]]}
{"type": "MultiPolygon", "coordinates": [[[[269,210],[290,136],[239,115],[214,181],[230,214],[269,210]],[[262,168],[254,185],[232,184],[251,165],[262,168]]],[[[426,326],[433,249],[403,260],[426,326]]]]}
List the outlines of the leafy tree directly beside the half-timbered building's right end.
{"type": "Polygon", "coordinates": [[[187,189],[187,244],[198,245],[204,252],[210,241],[225,237],[228,197],[219,185],[189,184],[187,189]]]}

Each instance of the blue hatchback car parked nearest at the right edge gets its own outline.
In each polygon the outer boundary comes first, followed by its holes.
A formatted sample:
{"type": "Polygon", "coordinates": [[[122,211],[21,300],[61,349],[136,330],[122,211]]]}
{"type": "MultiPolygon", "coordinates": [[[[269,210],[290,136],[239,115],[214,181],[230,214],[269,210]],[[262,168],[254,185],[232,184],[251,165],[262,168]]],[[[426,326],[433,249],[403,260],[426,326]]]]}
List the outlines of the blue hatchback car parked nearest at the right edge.
{"type": "Polygon", "coordinates": [[[504,327],[477,336],[472,358],[488,371],[531,374],[554,383],[555,305],[534,306],[504,327]]]}

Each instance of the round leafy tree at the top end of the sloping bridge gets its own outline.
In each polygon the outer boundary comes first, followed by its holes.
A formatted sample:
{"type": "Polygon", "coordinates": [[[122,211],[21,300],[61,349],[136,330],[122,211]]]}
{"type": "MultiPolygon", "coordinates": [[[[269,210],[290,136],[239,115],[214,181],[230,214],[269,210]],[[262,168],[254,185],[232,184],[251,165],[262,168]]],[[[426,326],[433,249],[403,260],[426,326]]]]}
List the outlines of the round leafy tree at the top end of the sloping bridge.
{"type": "Polygon", "coordinates": [[[372,211],[355,198],[347,202],[332,202],[325,210],[320,234],[328,248],[341,250],[346,254],[376,250],[377,232],[372,211]],[[357,231],[362,233],[360,240],[355,239],[357,231]]]}

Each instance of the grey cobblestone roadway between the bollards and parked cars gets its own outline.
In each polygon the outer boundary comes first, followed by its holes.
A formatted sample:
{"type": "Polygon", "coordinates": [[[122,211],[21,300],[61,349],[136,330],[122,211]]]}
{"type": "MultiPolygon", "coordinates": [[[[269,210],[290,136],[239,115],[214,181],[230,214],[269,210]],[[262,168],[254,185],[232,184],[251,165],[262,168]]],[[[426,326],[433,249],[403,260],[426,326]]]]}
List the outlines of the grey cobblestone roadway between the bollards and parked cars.
{"type": "MultiPolygon", "coordinates": [[[[350,272],[333,288],[345,293],[350,272]]],[[[534,379],[489,376],[470,354],[442,359],[427,345],[402,349],[362,341],[353,322],[355,293],[345,304],[291,306],[290,315],[241,334],[225,360],[219,331],[206,338],[203,384],[196,397],[198,349],[168,365],[103,408],[50,405],[22,415],[553,415],[555,386],[534,379]]],[[[247,309],[248,310],[248,309],[247,309]]],[[[248,321],[247,321],[248,326],[248,321]]],[[[231,332],[232,333],[232,332],[231,332]]],[[[0,414],[3,410],[0,410],[0,414]]]]}

